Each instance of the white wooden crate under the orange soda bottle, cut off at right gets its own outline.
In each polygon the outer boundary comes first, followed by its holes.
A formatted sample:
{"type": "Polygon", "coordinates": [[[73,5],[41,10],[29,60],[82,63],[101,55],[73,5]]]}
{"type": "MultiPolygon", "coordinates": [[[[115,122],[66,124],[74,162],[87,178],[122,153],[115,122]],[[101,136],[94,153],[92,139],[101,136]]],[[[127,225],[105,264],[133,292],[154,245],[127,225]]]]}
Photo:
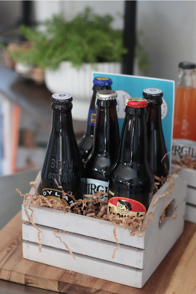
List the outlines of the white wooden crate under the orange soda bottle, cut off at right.
{"type": "MultiPolygon", "coordinates": [[[[179,168],[179,165],[172,165],[171,169],[174,172],[179,168]]],[[[181,169],[179,175],[187,183],[185,220],[196,223],[196,169],[181,169]]]]}

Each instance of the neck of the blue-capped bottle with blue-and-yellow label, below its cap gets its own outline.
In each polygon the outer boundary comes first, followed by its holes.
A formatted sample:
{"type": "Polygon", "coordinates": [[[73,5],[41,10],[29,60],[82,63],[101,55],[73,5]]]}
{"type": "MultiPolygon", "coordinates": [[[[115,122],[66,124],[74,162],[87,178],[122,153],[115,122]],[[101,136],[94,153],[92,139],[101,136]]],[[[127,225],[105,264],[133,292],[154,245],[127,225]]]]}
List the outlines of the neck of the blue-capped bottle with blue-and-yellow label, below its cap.
{"type": "Polygon", "coordinates": [[[87,128],[86,128],[86,135],[92,135],[94,134],[94,123],[92,123],[93,118],[96,116],[96,110],[97,110],[97,105],[96,105],[96,93],[100,90],[111,90],[111,86],[98,86],[98,85],[93,85],[93,95],[90,101],[90,108],[88,112],[88,121],[87,121],[87,128]]]}

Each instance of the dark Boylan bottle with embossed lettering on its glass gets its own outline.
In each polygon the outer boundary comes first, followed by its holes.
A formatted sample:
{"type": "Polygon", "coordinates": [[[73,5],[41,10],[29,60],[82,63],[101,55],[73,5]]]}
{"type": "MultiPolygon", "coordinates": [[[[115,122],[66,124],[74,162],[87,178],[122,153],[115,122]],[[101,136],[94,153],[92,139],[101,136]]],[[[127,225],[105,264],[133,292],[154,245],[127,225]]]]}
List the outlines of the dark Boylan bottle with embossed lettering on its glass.
{"type": "Polygon", "coordinates": [[[52,95],[52,128],[46,155],[41,171],[42,195],[61,202],[62,192],[55,179],[65,192],[68,204],[82,198],[80,179],[84,177],[84,166],[78,150],[72,123],[72,96],[68,93],[52,95]]]}

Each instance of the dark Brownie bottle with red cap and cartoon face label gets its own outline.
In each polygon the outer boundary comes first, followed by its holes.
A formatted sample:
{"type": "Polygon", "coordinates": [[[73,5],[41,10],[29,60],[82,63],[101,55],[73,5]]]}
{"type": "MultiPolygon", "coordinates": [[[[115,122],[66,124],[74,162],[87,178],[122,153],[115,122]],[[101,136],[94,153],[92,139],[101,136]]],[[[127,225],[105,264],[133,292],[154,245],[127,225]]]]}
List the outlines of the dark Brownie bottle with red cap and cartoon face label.
{"type": "Polygon", "coordinates": [[[109,173],[108,214],[143,216],[153,196],[154,175],[147,161],[146,106],[144,98],[125,101],[119,158],[109,173]]]}

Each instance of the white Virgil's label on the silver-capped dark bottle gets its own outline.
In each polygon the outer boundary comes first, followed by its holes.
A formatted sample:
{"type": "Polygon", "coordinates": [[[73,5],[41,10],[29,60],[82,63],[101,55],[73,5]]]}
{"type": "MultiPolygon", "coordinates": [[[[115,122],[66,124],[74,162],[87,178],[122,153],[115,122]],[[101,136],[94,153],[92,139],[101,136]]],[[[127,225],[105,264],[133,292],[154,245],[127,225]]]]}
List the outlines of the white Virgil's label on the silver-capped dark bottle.
{"type": "MultiPolygon", "coordinates": [[[[81,191],[83,195],[95,194],[96,192],[108,192],[108,182],[95,180],[95,179],[84,179],[81,178],[81,191]]],[[[107,198],[102,195],[100,199],[107,198]]]]}

